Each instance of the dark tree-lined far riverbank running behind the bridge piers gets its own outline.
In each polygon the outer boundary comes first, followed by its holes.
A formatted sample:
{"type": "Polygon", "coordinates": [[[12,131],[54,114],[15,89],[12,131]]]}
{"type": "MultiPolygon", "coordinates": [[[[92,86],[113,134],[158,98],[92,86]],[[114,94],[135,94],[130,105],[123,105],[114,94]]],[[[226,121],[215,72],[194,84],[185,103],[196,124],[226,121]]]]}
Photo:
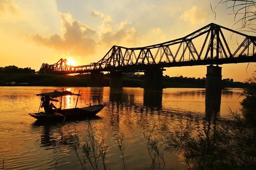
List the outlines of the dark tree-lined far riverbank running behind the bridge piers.
{"type": "MultiPolygon", "coordinates": [[[[109,86],[110,74],[104,74],[102,87],[109,86]]],[[[141,87],[143,74],[124,75],[123,87],[141,87]]],[[[206,78],[187,78],[163,76],[166,88],[205,88],[206,78]]],[[[0,86],[73,86],[94,87],[90,74],[56,75],[56,74],[28,74],[28,73],[0,73],[0,86]]],[[[235,82],[233,79],[223,79],[223,88],[247,88],[249,83],[235,82]]]]}

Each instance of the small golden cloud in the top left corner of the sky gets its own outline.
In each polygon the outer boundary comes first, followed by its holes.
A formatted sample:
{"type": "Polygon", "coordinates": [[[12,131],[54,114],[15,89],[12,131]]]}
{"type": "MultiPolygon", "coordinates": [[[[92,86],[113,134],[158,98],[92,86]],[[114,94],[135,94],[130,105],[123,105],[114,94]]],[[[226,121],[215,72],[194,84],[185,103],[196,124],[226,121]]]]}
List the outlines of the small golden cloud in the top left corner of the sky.
{"type": "Polygon", "coordinates": [[[12,0],[0,0],[0,17],[3,13],[17,14],[20,11],[20,7],[12,0]],[[2,13],[2,14],[1,14],[2,13]]]}

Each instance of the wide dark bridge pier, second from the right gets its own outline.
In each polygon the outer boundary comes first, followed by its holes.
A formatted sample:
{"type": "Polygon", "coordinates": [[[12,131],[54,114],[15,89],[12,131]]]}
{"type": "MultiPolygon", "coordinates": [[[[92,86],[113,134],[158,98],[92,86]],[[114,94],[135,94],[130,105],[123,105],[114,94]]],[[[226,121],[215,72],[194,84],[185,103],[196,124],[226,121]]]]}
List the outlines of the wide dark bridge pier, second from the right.
{"type": "Polygon", "coordinates": [[[142,88],[144,89],[162,89],[163,85],[163,71],[162,68],[147,69],[144,71],[144,82],[142,88]]]}

